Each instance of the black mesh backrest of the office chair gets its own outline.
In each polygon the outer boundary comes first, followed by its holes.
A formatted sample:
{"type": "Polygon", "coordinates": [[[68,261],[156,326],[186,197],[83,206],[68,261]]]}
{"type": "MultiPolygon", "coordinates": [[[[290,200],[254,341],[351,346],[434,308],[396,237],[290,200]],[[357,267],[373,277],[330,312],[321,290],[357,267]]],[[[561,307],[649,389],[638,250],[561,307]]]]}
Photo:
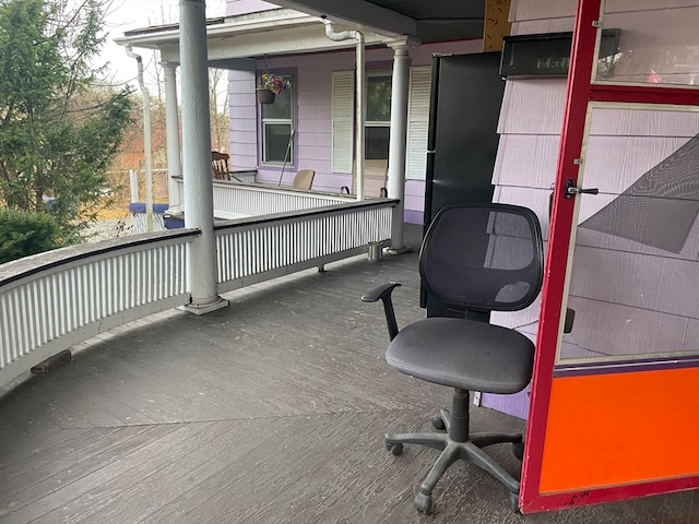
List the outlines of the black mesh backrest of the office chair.
{"type": "Polygon", "coordinates": [[[534,301],[543,278],[538,218],[509,204],[442,210],[419,254],[425,286],[441,301],[479,311],[517,311],[534,301]]]}

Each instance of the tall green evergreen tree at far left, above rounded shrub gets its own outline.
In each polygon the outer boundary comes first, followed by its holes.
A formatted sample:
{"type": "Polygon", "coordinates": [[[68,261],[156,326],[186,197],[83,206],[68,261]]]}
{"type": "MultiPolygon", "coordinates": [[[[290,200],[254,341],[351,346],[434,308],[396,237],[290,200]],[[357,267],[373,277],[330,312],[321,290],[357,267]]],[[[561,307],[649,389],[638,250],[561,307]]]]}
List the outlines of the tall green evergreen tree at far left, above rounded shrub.
{"type": "Polygon", "coordinates": [[[63,243],[96,218],[129,123],[129,92],[91,68],[107,8],[0,0],[0,207],[50,213],[63,243]]]}

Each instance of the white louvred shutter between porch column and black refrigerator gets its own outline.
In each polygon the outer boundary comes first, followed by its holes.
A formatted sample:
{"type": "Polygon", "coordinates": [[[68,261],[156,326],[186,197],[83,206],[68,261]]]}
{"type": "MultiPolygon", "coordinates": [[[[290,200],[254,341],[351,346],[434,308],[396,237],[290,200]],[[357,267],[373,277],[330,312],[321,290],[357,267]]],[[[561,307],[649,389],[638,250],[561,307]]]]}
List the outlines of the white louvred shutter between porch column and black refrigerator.
{"type": "Polygon", "coordinates": [[[431,66],[413,68],[407,107],[407,157],[405,158],[405,178],[407,179],[425,180],[426,178],[430,88],[431,66]]]}

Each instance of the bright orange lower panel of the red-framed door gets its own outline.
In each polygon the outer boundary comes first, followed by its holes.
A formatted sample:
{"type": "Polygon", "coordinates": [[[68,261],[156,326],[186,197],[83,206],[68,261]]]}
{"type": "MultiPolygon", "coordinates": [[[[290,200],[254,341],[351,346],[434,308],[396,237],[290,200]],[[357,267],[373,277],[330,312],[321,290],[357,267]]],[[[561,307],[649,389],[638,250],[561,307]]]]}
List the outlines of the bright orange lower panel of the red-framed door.
{"type": "Polygon", "coordinates": [[[699,368],[555,378],[541,493],[699,474],[699,368]]]}

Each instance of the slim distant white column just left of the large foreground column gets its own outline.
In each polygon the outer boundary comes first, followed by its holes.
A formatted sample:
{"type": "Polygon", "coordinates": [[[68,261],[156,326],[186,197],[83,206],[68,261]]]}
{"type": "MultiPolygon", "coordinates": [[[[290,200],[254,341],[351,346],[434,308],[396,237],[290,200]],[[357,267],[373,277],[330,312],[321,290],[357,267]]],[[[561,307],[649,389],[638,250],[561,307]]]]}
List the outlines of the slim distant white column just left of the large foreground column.
{"type": "Polygon", "coordinates": [[[181,211],[179,190],[173,177],[182,176],[179,143],[179,114],[177,110],[177,63],[162,62],[165,75],[165,128],[167,132],[167,193],[171,213],[181,211]]]}

